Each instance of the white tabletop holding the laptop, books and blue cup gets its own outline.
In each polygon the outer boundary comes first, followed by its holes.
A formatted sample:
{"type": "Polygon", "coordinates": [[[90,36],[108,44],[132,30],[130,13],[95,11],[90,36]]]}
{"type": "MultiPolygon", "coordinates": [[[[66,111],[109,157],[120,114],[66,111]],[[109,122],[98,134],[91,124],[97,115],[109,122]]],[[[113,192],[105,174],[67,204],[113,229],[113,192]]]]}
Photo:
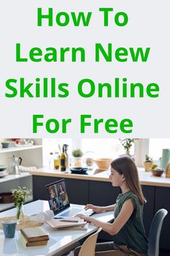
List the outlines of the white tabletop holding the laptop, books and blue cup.
{"type": "MultiPolygon", "coordinates": [[[[81,205],[76,205],[80,210],[81,205]]],[[[48,201],[37,200],[24,205],[24,214],[30,216],[32,214],[39,213],[40,211],[49,210],[48,201]]],[[[6,210],[0,213],[0,217],[14,216],[16,209],[6,210]]],[[[94,217],[100,221],[111,221],[113,218],[113,212],[94,214],[94,217]]],[[[97,230],[96,226],[87,223],[86,231],[58,231],[50,228],[48,225],[43,225],[43,229],[48,231],[50,240],[45,246],[39,247],[23,247],[19,241],[20,231],[16,231],[14,239],[5,239],[3,230],[0,230],[0,255],[1,256],[50,256],[50,255],[62,255],[69,248],[73,247],[80,239],[88,236],[97,230]]]]}

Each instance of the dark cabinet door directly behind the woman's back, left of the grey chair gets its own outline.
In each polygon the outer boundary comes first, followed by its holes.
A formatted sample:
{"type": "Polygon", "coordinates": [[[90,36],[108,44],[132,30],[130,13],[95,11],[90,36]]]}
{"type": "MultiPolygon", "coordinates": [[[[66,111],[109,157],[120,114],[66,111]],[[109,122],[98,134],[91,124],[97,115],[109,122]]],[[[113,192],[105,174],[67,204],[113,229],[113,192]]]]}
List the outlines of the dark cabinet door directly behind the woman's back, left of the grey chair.
{"type": "Polygon", "coordinates": [[[143,224],[146,229],[146,236],[148,236],[154,216],[155,187],[142,186],[142,190],[143,195],[146,198],[146,204],[143,207],[143,224]]]}

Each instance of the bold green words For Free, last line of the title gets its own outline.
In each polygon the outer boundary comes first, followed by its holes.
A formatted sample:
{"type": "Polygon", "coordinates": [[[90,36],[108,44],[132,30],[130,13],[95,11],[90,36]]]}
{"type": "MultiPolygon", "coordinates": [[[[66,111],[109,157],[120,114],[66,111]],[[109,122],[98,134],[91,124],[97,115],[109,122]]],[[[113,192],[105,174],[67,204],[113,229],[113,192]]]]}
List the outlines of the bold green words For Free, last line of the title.
{"type": "MultiPolygon", "coordinates": [[[[34,114],[32,116],[32,132],[37,133],[38,127],[45,127],[48,133],[57,133],[61,131],[62,133],[67,132],[68,124],[71,124],[72,119],[48,119],[44,120],[44,115],[34,114]]],[[[107,133],[117,133],[118,129],[122,133],[133,132],[133,121],[130,119],[122,119],[120,124],[116,119],[92,119],[90,114],[84,114],[80,117],[80,132],[82,134],[86,133],[86,128],[92,127],[94,133],[99,133],[99,129],[104,129],[107,133]],[[101,128],[102,127],[102,128],[101,128]]]]}

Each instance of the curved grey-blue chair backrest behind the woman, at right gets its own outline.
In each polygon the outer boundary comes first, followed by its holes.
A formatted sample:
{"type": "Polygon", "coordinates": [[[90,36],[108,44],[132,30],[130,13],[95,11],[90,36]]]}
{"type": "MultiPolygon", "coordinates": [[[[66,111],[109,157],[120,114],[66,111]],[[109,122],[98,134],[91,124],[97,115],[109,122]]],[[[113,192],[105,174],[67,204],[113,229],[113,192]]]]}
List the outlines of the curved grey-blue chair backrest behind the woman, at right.
{"type": "Polygon", "coordinates": [[[160,209],[153,217],[148,237],[148,256],[159,255],[159,237],[167,210],[160,209]]]}

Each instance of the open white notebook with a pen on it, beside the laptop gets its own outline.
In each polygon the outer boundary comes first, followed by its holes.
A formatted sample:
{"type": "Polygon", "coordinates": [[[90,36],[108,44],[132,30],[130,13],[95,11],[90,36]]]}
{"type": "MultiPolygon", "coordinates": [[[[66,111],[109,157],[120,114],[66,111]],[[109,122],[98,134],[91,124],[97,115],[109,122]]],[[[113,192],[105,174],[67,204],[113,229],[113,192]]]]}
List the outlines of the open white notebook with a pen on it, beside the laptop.
{"type": "Polygon", "coordinates": [[[82,227],[86,224],[84,220],[78,217],[53,219],[50,221],[46,221],[46,223],[48,223],[48,225],[54,229],[66,229],[79,226],[82,227]]]}

